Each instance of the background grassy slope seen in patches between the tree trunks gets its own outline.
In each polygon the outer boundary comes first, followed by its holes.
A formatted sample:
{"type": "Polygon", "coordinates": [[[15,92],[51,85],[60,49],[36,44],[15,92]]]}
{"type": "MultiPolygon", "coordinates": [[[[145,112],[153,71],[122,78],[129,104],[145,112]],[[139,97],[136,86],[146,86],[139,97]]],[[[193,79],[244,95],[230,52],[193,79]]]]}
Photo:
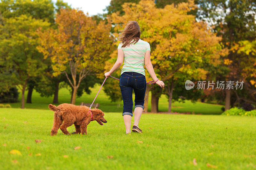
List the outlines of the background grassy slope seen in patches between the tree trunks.
{"type": "MultiPolygon", "coordinates": [[[[76,99],[76,105],[80,105],[81,102],[84,103],[92,103],[95,95],[97,94],[100,85],[95,85],[92,88],[91,94],[84,93],[82,97],[76,99]]],[[[103,86],[104,88],[104,86],[103,86]]],[[[27,92],[25,94],[27,97],[27,92]]],[[[59,91],[59,102],[60,103],[70,103],[70,92],[66,88],[62,88],[59,91]]],[[[19,100],[21,101],[21,95],[19,95],[19,100]]],[[[25,103],[26,108],[37,108],[37,109],[48,109],[48,105],[52,103],[52,97],[41,97],[39,93],[35,90],[32,93],[32,104],[25,103]]],[[[134,94],[133,94],[133,101],[134,101],[134,94]]],[[[148,102],[148,111],[151,110],[151,95],[149,95],[149,102],[148,102]]],[[[123,112],[123,101],[119,102],[111,102],[109,97],[104,93],[103,90],[100,91],[95,103],[100,103],[100,109],[105,112],[123,112]]],[[[21,102],[18,103],[10,103],[13,108],[19,108],[21,106],[21,102]]],[[[162,95],[159,99],[159,112],[167,112],[168,111],[168,100],[165,95],[162,95]]],[[[209,103],[201,103],[196,102],[192,103],[190,100],[186,100],[185,103],[174,102],[172,103],[172,112],[194,112],[194,113],[201,113],[201,114],[211,114],[211,115],[220,115],[222,105],[216,104],[209,104],[209,103]]]]}

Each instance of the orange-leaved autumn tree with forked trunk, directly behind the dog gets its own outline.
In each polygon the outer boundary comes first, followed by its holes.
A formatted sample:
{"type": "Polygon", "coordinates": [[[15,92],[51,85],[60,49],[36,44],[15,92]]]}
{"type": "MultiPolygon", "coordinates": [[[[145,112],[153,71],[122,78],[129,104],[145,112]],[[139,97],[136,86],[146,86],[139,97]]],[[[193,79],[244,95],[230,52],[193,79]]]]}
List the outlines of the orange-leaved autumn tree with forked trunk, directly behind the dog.
{"type": "Polygon", "coordinates": [[[71,103],[75,104],[77,90],[84,78],[103,73],[112,44],[111,25],[104,22],[97,25],[92,17],[76,9],[61,9],[55,22],[57,30],[38,32],[41,40],[38,49],[44,57],[51,57],[54,76],[66,75],[73,88],[71,103]]]}

